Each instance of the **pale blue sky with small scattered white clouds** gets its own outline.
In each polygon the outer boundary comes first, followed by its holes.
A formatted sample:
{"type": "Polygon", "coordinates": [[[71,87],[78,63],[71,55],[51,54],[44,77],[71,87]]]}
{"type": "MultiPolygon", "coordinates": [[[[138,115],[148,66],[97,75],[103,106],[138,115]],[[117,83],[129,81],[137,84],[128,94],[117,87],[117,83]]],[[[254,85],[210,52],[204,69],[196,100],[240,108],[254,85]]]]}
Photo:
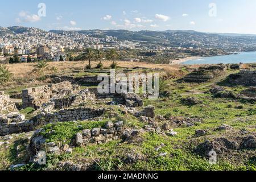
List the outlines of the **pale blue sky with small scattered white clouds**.
{"type": "Polygon", "coordinates": [[[256,34],[255,0],[0,0],[0,26],[256,34]]]}

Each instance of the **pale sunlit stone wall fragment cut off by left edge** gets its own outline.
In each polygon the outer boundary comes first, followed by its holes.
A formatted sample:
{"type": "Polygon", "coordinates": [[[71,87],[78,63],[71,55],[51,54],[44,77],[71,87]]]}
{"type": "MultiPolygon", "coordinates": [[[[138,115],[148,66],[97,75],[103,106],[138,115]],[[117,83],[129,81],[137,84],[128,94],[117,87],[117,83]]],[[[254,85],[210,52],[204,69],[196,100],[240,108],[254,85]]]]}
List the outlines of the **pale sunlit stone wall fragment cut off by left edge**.
{"type": "Polygon", "coordinates": [[[6,95],[5,92],[0,92],[0,114],[9,113],[12,111],[18,111],[15,104],[10,101],[10,96],[6,95]]]}

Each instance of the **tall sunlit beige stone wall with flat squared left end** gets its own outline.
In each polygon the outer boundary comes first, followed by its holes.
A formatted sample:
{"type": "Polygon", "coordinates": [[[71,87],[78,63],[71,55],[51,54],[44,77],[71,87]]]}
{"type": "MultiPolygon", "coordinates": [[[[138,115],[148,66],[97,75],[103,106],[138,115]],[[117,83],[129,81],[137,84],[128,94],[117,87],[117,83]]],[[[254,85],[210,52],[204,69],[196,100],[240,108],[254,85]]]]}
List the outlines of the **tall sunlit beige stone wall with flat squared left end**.
{"type": "Polygon", "coordinates": [[[64,81],[59,84],[49,84],[36,88],[24,89],[22,90],[22,107],[39,109],[43,104],[49,102],[53,96],[56,96],[64,89],[71,90],[71,92],[74,93],[80,90],[80,86],[72,85],[71,82],[64,81]]]}

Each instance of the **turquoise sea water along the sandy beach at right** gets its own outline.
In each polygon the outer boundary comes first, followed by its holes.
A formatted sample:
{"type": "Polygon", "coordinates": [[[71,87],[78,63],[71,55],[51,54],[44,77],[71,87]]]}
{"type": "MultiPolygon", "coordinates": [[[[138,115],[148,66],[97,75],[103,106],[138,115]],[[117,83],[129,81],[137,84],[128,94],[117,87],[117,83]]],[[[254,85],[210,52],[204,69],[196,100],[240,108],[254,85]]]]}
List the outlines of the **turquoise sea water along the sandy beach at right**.
{"type": "Polygon", "coordinates": [[[202,57],[183,64],[256,63],[256,52],[240,52],[237,55],[202,57]]]}

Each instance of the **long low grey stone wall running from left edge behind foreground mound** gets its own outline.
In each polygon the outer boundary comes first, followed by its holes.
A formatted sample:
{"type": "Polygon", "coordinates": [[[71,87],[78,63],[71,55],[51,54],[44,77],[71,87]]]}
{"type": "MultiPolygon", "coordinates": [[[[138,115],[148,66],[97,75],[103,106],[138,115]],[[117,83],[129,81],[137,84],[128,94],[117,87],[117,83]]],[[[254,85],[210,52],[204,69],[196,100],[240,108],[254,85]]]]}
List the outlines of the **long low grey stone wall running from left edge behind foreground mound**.
{"type": "Polygon", "coordinates": [[[97,118],[104,114],[104,111],[105,109],[91,109],[88,107],[63,109],[54,113],[38,114],[29,121],[25,120],[24,115],[19,113],[0,115],[0,136],[32,131],[36,126],[47,125],[48,123],[97,118]]]}

